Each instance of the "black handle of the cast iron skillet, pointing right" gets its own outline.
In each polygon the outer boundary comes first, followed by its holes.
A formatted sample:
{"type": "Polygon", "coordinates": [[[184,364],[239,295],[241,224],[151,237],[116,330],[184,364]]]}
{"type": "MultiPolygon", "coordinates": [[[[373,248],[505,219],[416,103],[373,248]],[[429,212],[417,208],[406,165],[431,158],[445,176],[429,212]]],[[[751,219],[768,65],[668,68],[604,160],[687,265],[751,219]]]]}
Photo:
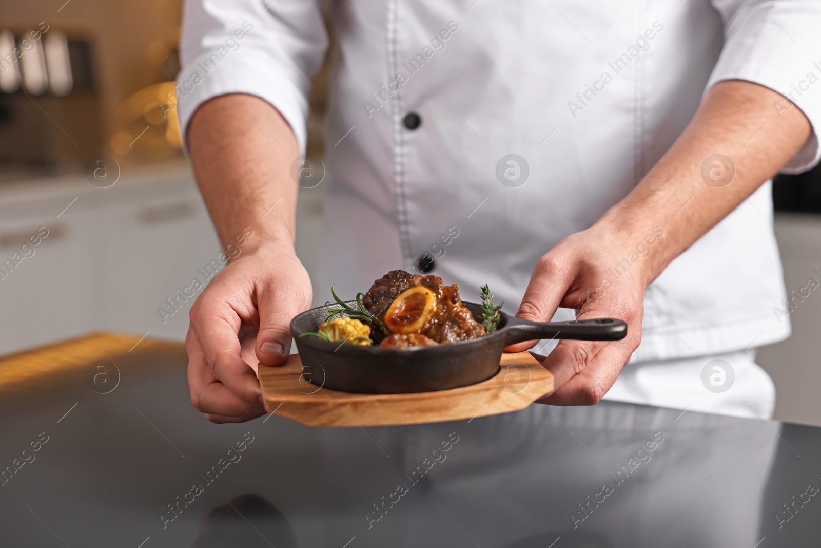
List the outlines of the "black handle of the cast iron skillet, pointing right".
{"type": "Polygon", "coordinates": [[[582,341],[617,341],[627,336],[627,324],[615,318],[538,322],[509,316],[505,345],[534,338],[572,338],[582,341]]]}

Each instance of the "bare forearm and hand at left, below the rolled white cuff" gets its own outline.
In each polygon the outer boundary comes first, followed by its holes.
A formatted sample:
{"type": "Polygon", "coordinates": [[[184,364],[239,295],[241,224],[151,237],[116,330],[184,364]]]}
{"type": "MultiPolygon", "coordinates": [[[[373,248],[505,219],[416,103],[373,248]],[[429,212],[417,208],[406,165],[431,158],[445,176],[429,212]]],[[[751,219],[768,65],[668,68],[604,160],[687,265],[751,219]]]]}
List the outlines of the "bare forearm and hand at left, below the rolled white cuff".
{"type": "Polygon", "coordinates": [[[225,94],[201,104],[187,128],[191,165],[225,249],[246,228],[254,237],[191,307],[186,337],[191,403],[212,422],[265,412],[256,366],[282,365],[288,325],[310,306],[308,273],[296,258],[300,148],[264,99],[225,94]]]}

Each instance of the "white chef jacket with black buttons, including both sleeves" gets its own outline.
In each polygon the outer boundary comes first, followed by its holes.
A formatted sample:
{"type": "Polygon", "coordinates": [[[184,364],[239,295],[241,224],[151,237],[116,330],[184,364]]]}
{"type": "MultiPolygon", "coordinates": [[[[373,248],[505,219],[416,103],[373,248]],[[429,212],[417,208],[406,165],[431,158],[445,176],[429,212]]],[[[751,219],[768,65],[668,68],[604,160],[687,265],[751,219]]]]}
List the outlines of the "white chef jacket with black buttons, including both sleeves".
{"type": "MultiPolygon", "coordinates": [[[[323,2],[269,2],[186,1],[182,127],[205,100],[255,94],[304,150],[310,77],[328,46],[323,2]]],[[[459,283],[466,300],[488,283],[515,312],[536,260],[626,196],[718,81],[787,95],[814,132],[784,171],[819,160],[818,0],[332,7],[339,52],[317,302],[331,283],[352,297],[428,252],[439,256],[432,273],[459,283]],[[406,125],[409,113],[418,127],[406,125]],[[507,163],[507,154],[524,162],[507,163]]],[[[767,128],[754,138],[768,139],[767,128]]],[[[789,318],[776,311],[788,310],[770,191],[768,182],[650,284],[633,361],[736,352],[789,335],[789,318]]]]}

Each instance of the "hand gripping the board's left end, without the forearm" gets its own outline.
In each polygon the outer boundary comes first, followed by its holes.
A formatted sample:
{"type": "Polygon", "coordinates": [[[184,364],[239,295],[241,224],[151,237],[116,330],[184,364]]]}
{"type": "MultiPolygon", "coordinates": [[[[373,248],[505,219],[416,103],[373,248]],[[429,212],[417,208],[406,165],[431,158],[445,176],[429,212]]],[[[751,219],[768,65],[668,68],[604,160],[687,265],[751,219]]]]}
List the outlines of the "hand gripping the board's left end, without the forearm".
{"type": "Polygon", "coordinates": [[[285,363],[289,324],[311,302],[308,273],[293,247],[264,243],[219,272],[190,311],[186,337],[191,403],[212,422],[265,413],[257,362],[285,363]]]}

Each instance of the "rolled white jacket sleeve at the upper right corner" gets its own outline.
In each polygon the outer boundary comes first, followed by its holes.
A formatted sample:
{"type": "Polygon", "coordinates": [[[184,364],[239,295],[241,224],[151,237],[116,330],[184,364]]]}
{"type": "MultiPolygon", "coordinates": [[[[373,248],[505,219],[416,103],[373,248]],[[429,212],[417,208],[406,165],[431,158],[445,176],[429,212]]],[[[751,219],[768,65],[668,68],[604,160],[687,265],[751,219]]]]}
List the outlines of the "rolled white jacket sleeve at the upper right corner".
{"type": "MultiPolygon", "coordinates": [[[[707,89],[722,80],[764,85],[796,105],[813,133],[782,168],[800,173],[821,158],[821,2],[819,0],[712,0],[724,21],[724,48],[707,89]]],[[[766,131],[766,130],[764,130],[766,131]]]]}

